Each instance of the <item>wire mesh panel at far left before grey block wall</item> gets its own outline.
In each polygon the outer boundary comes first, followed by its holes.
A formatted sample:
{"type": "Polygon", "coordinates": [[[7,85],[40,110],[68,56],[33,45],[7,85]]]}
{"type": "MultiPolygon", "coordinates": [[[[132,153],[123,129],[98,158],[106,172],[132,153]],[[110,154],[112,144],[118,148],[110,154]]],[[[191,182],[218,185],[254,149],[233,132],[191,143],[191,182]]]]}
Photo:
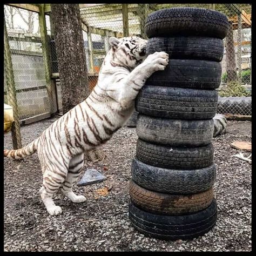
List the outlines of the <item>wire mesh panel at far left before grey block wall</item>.
{"type": "MultiPolygon", "coordinates": [[[[13,6],[4,8],[19,119],[50,112],[38,14],[13,6]]],[[[4,91],[7,103],[5,87],[4,91]]]]}

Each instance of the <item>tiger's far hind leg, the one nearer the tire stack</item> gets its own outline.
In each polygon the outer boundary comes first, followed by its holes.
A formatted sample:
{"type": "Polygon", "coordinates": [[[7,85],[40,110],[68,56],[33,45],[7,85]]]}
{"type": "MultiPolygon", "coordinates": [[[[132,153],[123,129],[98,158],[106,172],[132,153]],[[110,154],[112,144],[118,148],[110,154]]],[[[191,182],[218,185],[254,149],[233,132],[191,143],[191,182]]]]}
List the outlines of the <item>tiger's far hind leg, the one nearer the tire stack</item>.
{"type": "Polygon", "coordinates": [[[84,154],[78,154],[73,157],[69,163],[69,170],[66,179],[60,188],[64,196],[68,197],[73,203],[83,203],[86,198],[82,195],[77,196],[73,191],[73,185],[76,183],[80,171],[84,166],[84,154]]]}

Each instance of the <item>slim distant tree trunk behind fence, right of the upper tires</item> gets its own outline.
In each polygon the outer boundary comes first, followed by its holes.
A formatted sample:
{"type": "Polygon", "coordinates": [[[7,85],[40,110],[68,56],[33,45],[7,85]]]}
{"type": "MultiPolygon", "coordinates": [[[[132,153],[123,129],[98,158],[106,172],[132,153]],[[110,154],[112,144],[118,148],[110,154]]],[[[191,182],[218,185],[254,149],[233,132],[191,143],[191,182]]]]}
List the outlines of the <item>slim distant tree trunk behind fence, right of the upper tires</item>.
{"type": "Polygon", "coordinates": [[[229,22],[227,36],[225,39],[226,45],[226,70],[227,70],[227,82],[237,81],[237,71],[235,67],[235,50],[234,50],[234,37],[232,22],[229,22]]]}

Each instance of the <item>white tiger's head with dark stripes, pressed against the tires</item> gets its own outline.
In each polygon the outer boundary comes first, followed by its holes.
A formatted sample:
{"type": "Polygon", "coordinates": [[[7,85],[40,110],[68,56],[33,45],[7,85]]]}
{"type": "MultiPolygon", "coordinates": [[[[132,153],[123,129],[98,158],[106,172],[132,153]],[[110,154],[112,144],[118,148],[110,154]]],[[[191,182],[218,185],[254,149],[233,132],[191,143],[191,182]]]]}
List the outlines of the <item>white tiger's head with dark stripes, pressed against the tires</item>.
{"type": "Polygon", "coordinates": [[[137,36],[116,38],[110,37],[113,60],[117,59],[129,68],[134,69],[146,58],[147,40],[137,36]]]}

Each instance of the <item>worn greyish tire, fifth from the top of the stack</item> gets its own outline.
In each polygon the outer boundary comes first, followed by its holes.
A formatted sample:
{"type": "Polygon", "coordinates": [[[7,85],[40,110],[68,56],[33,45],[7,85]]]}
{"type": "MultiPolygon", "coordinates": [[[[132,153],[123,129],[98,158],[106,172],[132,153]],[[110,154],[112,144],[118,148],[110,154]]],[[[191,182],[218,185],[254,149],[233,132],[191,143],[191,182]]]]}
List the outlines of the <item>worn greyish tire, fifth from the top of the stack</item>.
{"type": "Polygon", "coordinates": [[[138,115],[136,132],[140,139],[154,144],[198,147],[210,144],[213,119],[180,120],[138,115]]]}

